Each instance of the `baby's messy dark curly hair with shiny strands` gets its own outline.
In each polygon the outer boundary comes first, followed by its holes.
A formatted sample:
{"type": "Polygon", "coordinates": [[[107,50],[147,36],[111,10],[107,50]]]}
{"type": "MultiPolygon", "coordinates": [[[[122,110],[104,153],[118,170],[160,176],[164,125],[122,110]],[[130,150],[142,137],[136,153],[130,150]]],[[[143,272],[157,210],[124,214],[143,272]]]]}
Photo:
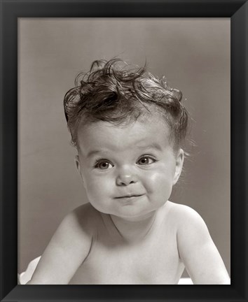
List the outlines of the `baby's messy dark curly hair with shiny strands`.
{"type": "Polygon", "coordinates": [[[88,73],[79,73],[75,87],[64,96],[64,113],[71,143],[78,147],[79,124],[99,120],[113,124],[135,122],[145,113],[160,113],[179,148],[188,128],[182,94],[143,68],[132,68],[121,59],[92,62],[88,73]]]}

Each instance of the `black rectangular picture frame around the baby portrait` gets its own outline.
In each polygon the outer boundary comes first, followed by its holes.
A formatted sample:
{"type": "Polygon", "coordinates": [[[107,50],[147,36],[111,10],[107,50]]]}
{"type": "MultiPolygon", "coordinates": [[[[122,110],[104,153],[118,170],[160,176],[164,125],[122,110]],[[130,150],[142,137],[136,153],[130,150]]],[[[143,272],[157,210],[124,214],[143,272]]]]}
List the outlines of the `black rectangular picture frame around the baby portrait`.
{"type": "Polygon", "coordinates": [[[244,0],[24,1],[1,3],[1,301],[247,301],[247,55],[244,0]],[[18,17],[230,17],[231,285],[17,285],[18,17]]]}

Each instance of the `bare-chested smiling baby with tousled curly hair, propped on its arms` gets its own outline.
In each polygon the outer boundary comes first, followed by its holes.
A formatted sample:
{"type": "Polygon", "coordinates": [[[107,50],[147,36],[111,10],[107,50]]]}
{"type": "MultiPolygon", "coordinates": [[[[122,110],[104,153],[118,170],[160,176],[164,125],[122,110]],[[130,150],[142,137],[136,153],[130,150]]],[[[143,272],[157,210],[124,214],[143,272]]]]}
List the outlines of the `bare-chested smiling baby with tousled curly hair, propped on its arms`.
{"type": "Polygon", "coordinates": [[[89,203],[58,227],[29,285],[196,285],[230,279],[205,222],[168,201],[184,163],[181,92],[120,59],[92,63],[64,97],[89,203]]]}

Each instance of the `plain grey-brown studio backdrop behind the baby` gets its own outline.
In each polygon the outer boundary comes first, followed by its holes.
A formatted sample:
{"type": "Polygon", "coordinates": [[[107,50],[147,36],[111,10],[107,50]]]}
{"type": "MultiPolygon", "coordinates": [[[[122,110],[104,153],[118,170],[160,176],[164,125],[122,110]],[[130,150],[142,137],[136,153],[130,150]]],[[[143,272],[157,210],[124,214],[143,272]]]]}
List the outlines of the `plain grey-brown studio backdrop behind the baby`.
{"type": "Polygon", "coordinates": [[[183,92],[195,147],[170,200],[202,215],[230,273],[230,19],[20,18],[18,30],[18,272],[87,202],[63,97],[93,60],[118,56],[183,92]]]}

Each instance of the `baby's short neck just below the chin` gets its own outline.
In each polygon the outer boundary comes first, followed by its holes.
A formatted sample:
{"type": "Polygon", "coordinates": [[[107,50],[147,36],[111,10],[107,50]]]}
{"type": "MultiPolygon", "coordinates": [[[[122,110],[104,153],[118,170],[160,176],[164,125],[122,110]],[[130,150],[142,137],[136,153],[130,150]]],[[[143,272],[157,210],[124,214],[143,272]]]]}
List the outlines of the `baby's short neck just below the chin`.
{"type": "Polygon", "coordinates": [[[153,224],[156,222],[158,210],[149,213],[142,217],[135,217],[132,219],[110,215],[111,220],[120,233],[123,240],[128,242],[138,242],[143,240],[149,234],[153,224]]]}

